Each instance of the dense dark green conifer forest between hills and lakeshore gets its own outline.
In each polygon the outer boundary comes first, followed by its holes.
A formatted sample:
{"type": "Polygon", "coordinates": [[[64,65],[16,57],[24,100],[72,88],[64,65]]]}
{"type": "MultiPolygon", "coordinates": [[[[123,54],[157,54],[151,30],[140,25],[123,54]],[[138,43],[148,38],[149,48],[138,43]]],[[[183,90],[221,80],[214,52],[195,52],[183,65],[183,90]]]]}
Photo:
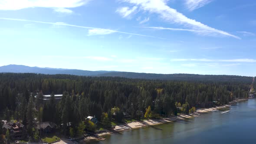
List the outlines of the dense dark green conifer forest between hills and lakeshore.
{"type": "Polygon", "coordinates": [[[36,111],[42,107],[43,121],[53,121],[66,134],[67,128],[62,128],[62,123],[70,122],[76,128],[88,115],[101,120],[102,112],[110,115],[113,108],[140,119],[148,106],[156,117],[170,116],[177,114],[177,107],[188,113],[192,107],[210,107],[213,101],[222,105],[235,98],[247,98],[253,78],[216,75],[204,82],[193,79],[186,82],[0,73],[0,115],[1,119],[27,125],[31,122],[27,117],[29,111],[35,106],[36,111]],[[34,98],[36,93],[39,94],[34,98]],[[42,94],[63,94],[63,97],[55,101],[52,96],[43,102],[42,94]]]}

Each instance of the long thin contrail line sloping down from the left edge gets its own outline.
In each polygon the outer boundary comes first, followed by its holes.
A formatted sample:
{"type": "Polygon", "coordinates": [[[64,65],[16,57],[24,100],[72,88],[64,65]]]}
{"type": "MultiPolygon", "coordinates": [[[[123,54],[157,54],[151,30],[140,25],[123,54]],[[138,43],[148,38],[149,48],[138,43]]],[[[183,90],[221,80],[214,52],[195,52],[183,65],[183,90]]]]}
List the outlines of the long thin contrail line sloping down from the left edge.
{"type": "Polygon", "coordinates": [[[43,22],[43,21],[26,20],[26,19],[13,19],[13,18],[6,18],[6,17],[0,17],[0,20],[14,20],[14,21],[23,21],[23,22],[44,23],[44,24],[59,25],[59,26],[78,27],[78,28],[83,28],[83,29],[100,29],[99,31],[104,31],[105,30],[105,31],[108,31],[109,34],[110,34],[110,32],[113,32],[113,33],[124,33],[124,34],[135,35],[135,36],[151,37],[151,38],[157,38],[157,39],[165,39],[165,38],[161,38],[161,37],[157,37],[157,36],[148,36],[148,35],[141,35],[141,34],[138,34],[138,33],[121,32],[121,31],[116,31],[116,30],[112,30],[112,29],[104,29],[103,30],[102,28],[72,25],[72,24],[62,23],[62,22],[53,23],[53,22],[43,22]]]}

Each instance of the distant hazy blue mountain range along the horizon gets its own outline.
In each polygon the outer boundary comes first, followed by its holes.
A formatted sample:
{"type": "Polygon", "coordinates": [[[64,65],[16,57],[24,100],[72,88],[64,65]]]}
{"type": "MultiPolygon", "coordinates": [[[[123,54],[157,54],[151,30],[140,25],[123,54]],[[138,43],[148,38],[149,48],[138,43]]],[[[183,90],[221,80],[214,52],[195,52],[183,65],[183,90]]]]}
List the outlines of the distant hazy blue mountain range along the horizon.
{"type": "MultiPolygon", "coordinates": [[[[137,73],[137,72],[117,72],[117,71],[87,71],[79,69],[55,69],[55,68],[39,68],[25,65],[5,65],[0,66],[0,72],[12,73],[40,73],[40,74],[67,74],[80,76],[110,76],[125,77],[130,79],[153,79],[153,80],[202,80],[202,81],[240,81],[245,76],[236,75],[195,75],[195,74],[153,74],[153,73],[137,73]]],[[[251,77],[247,77],[252,79],[251,77]]]]}

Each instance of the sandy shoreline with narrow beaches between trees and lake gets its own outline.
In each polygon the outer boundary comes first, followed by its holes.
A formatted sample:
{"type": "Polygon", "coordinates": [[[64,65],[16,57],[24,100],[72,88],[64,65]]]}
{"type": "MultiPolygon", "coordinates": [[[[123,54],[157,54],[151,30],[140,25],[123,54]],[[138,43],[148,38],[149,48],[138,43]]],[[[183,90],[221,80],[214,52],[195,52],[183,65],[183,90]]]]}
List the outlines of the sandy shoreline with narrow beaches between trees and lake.
{"type": "MultiPolygon", "coordinates": [[[[216,106],[216,107],[212,107],[212,108],[203,108],[203,109],[200,108],[200,109],[197,109],[197,111],[195,113],[191,113],[189,115],[181,114],[181,115],[172,116],[169,118],[148,119],[148,120],[144,120],[144,121],[132,121],[130,123],[119,124],[119,125],[115,126],[115,128],[113,129],[115,132],[102,131],[100,133],[95,134],[98,137],[87,136],[81,142],[86,143],[89,141],[100,141],[100,140],[102,140],[102,137],[104,137],[106,135],[112,135],[112,134],[118,133],[120,131],[138,129],[138,128],[143,128],[143,127],[148,127],[148,126],[153,126],[153,125],[165,124],[165,123],[174,123],[175,121],[184,121],[187,118],[195,118],[195,117],[198,117],[199,115],[206,113],[206,112],[213,112],[220,108],[229,108],[237,102],[246,101],[248,99],[249,98],[236,99],[236,100],[230,101],[229,105],[221,105],[221,106],[216,106]]],[[[103,138],[103,139],[105,140],[105,138],[103,138]]]]}

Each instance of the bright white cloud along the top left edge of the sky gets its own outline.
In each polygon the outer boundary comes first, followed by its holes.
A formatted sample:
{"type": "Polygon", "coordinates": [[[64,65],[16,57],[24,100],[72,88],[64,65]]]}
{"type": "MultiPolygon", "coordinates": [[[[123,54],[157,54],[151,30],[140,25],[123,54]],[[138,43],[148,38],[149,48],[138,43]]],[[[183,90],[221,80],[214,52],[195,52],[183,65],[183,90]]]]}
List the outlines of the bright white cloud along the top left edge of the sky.
{"type": "Polygon", "coordinates": [[[85,5],[90,0],[1,0],[0,10],[21,10],[30,7],[72,8],[85,5]]]}

